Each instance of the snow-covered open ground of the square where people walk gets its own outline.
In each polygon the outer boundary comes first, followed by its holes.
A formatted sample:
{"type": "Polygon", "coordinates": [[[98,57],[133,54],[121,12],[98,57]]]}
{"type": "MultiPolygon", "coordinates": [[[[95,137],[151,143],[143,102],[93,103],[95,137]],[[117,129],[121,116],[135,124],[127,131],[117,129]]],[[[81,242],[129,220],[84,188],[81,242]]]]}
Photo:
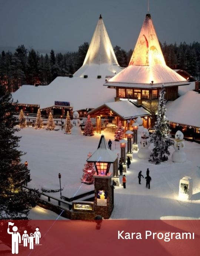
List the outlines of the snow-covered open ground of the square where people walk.
{"type": "MultiPolygon", "coordinates": [[[[120,153],[119,142],[114,141],[114,134],[102,132],[106,140],[113,141],[112,150],[120,153]]],[[[73,197],[93,190],[94,185],[83,184],[80,178],[87,160],[87,154],[97,149],[100,134],[92,137],[83,135],[67,135],[64,131],[36,130],[32,127],[21,129],[20,150],[27,152],[22,161],[28,161],[31,173],[29,187],[59,188],[58,174],[61,173],[62,195],[73,197]]],[[[122,186],[114,190],[114,210],[111,219],[192,219],[200,217],[200,144],[186,141],[184,149],[187,155],[185,163],[169,161],[154,165],[148,160],[137,158],[133,153],[130,169],[128,169],[127,188],[122,186]],[[151,188],[145,186],[145,179],[138,184],[137,175],[140,170],[144,177],[147,167],[152,178],[151,188]],[[181,201],[179,198],[179,181],[184,176],[193,178],[193,196],[191,200],[181,201]]],[[[171,152],[173,148],[171,147],[171,152]]],[[[112,166],[110,168],[112,171],[112,166]]],[[[121,177],[120,177],[121,181],[121,177]]],[[[54,197],[60,193],[51,193],[54,197]]],[[[56,214],[44,214],[31,210],[31,219],[56,219],[56,214]],[[39,214],[39,215],[38,215],[39,214]],[[40,217],[41,216],[41,217],[40,217]]]]}

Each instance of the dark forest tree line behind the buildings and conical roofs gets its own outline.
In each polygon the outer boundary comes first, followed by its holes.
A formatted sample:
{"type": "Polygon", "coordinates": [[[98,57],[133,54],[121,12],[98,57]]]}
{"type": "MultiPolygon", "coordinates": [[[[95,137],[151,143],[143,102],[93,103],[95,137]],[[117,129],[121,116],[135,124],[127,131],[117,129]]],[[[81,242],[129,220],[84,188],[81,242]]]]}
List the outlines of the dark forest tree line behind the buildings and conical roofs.
{"type": "MultiPolygon", "coordinates": [[[[185,42],[177,45],[161,45],[167,66],[172,69],[184,69],[192,76],[200,79],[200,43],[185,42]]],[[[18,46],[14,53],[0,54],[0,84],[7,91],[16,91],[21,85],[39,83],[48,85],[57,76],[68,76],[78,70],[84,62],[89,43],[79,46],[77,52],[55,53],[43,55],[34,49],[27,50],[24,45],[18,46]]],[[[114,52],[121,67],[127,67],[133,50],[128,52],[120,46],[114,47],[114,52]]]]}

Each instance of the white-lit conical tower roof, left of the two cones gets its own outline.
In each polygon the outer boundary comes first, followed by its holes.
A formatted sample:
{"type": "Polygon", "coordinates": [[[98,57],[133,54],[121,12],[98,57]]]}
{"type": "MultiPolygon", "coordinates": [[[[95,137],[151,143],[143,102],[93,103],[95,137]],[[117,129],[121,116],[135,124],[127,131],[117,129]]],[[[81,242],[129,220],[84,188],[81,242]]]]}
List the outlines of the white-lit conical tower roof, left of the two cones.
{"type": "Polygon", "coordinates": [[[120,71],[121,68],[100,15],[83,66],[74,73],[74,76],[87,75],[96,78],[101,75],[105,78],[105,76],[114,76],[120,71]]]}

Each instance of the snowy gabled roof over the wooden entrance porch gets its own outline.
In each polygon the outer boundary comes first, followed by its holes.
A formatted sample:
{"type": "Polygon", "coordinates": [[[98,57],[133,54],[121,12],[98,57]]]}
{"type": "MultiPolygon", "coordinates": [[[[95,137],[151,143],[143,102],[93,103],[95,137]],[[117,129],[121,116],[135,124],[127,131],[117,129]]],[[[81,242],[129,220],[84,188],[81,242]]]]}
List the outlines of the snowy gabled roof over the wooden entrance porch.
{"type": "Polygon", "coordinates": [[[91,116],[101,108],[107,107],[116,115],[119,115],[123,119],[136,118],[138,116],[150,115],[150,112],[144,109],[142,106],[138,107],[130,101],[115,101],[107,102],[96,109],[88,112],[91,116]]]}

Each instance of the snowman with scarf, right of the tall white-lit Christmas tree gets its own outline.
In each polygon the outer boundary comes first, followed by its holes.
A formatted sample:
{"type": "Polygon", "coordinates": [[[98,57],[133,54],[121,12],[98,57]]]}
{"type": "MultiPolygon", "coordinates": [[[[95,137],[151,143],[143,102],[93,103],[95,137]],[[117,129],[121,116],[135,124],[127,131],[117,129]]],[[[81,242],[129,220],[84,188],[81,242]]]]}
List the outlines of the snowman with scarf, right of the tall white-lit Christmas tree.
{"type": "Polygon", "coordinates": [[[183,132],[177,131],[175,134],[175,141],[173,144],[175,151],[173,152],[171,158],[173,162],[183,163],[186,161],[186,153],[183,152],[185,147],[185,142],[183,140],[183,132]]]}

